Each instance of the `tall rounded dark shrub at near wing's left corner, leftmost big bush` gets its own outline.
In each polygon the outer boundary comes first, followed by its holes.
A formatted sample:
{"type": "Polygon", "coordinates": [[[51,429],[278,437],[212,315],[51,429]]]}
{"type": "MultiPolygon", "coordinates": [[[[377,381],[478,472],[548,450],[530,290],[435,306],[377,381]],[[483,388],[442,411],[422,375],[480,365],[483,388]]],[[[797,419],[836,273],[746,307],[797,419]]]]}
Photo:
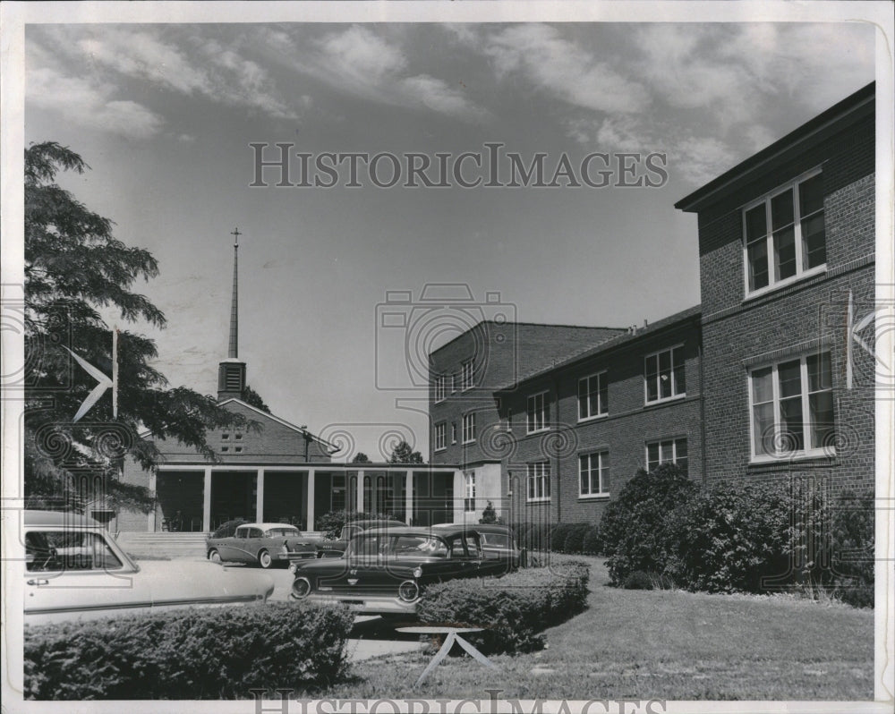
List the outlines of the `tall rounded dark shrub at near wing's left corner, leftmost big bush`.
{"type": "Polygon", "coordinates": [[[638,471],[618,498],[609,502],[600,522],[600,538],[613,583],[625,582],[635,570],[662,570],[663,522],[695,489],[676,465],[662,463],[652,472],[638,471]]]}

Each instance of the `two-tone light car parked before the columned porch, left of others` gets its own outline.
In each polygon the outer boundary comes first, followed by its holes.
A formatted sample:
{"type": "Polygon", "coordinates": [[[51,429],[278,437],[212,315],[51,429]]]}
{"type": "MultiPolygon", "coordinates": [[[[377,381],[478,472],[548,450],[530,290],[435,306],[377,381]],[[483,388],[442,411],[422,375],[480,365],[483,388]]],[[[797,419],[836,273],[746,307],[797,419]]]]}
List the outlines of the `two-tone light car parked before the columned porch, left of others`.
{"type": "Polygon", "coordinates": [[[205,549],[213,563],[250,563],[262,568],[317,557],[314,541],[289,523],[243,523],[232,536],[216,538],[212,533],[205,549]]]}

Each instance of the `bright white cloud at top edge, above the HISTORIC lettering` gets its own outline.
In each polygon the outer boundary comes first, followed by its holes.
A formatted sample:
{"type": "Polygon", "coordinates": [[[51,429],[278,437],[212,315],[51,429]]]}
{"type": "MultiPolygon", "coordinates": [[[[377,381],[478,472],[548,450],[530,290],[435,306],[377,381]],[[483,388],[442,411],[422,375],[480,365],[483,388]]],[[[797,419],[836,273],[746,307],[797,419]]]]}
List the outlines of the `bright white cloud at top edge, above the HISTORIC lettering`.
{"type": "Polygon", "coordinates": [[[266,30],[264,41],[290,68],[354,96],[467,122],[490,119],[487,110],[446,81],[413,72],[404,50],[368,27],[353,25],[301,43],[286,31],[266,30]]]}

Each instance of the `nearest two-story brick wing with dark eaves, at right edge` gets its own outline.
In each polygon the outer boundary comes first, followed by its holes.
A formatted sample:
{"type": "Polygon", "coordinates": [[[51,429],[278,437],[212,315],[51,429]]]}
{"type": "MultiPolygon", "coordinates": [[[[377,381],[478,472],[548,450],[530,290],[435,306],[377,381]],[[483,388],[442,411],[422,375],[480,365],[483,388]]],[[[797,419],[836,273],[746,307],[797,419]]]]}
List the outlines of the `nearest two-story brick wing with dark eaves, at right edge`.
{"type": "Polygon", "coordinates": [[[874,482],[874,359],[849,334],[874,309],[874,97],[676,204],[698,216],[709,478],[874,482]]]}

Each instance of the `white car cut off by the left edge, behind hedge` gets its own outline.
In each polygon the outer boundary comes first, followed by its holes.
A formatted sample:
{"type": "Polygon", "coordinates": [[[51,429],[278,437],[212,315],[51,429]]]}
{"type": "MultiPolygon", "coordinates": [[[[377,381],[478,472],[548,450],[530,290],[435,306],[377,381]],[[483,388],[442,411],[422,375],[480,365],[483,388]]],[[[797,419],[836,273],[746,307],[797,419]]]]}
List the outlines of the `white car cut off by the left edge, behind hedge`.
{"type": "Polygon", "coordinates": [[[25,511],[24,621],[29,625],[189,606],[265,602],[267,574],[210,563],[135,564],[92,518],[25,511]]]}

